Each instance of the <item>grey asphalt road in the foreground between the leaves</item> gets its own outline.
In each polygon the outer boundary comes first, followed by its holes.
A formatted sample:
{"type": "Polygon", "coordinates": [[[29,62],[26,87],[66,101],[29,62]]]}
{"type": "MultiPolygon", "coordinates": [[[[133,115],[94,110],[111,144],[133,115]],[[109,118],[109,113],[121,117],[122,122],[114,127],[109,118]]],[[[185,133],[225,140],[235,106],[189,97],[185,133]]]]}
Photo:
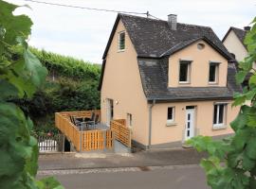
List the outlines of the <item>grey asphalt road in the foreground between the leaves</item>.
{"type": "Polygon", "coordinates": [[[208,189],[198,165],[41,172],[53,175],[66,189],[208,189]]]}

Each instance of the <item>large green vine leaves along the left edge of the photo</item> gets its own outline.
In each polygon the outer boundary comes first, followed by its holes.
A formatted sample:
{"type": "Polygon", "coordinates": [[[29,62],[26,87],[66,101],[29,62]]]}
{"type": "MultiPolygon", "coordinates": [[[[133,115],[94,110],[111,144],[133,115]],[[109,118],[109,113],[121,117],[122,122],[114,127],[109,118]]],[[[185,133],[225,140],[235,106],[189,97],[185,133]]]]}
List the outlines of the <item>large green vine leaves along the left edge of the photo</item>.
{"type": "Polygon", "coordinates": [[[47,75],[27,48],[32,22],[26,15],[14,16],[16,8],[0,0],[0,188],[61,189],[53,178],[35,180],[38,147],[30,135],[33,124],[9,102],[11,97],[31,97],[47,75]]]}

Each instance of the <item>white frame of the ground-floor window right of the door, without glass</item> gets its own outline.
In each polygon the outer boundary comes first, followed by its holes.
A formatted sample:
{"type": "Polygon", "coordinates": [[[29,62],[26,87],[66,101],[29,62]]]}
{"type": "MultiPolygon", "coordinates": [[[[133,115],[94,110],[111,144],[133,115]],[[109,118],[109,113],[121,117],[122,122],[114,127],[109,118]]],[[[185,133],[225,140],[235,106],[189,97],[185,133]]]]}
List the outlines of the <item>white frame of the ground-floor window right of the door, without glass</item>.
{"type": "Polygon", "coordinates": [[[213,104],[213,129],[226,129],[227,128],[227,111],[228,111],[228,103],[224,102],[218,102],[213,104]],[[220,105],[224,105],[223,110],[223,123],[219,123],[219,111],[220,111],[220,105]],[[216,113],[216,124],[214,124],[214,107],[217,106],[217,113],[216,113]]]}

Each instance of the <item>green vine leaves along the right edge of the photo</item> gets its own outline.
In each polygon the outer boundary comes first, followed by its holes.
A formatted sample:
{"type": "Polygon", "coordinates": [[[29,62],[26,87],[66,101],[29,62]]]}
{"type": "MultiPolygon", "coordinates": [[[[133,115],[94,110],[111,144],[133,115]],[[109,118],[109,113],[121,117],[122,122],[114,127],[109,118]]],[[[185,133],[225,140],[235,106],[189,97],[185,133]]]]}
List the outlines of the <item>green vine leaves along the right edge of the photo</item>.
{"type": "Polygon", "coordinates": [[[245,39],[248,56],[239,62],[236,80],[241,84],[251,70],[253,75],[249,78],[248,89],[245,88],[242,94],[234,94],[233,106],[241,106],[230,124],[234,135],[221,141],[213,141],[208,136],[188,141],[198,151],[208,152],[209,157],[202,159],[200,164],[212,189],[256,188],[256,70],[252,67],[256,62],[256,17],[252,24],[245,39]],[[251,106],[245,105],[246,100],[251,101],[251,106]]]}

